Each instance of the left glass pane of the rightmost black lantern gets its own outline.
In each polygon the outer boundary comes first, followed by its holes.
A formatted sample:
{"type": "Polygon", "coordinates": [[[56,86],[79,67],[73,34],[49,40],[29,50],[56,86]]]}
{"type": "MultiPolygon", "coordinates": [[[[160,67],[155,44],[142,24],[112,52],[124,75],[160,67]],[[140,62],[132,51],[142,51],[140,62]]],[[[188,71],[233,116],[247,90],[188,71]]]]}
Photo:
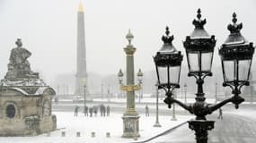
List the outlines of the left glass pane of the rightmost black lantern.
{"type": "Polygon", "coordinates": [[[233,81],[234,80],[234,77],[235,77],[235,71],[234,70],[234,61],[223,61],[223,68],[224,68],[224,71],[225,71],[225,75],[224,75],[224,80],[225,81],[233,81]]]}

